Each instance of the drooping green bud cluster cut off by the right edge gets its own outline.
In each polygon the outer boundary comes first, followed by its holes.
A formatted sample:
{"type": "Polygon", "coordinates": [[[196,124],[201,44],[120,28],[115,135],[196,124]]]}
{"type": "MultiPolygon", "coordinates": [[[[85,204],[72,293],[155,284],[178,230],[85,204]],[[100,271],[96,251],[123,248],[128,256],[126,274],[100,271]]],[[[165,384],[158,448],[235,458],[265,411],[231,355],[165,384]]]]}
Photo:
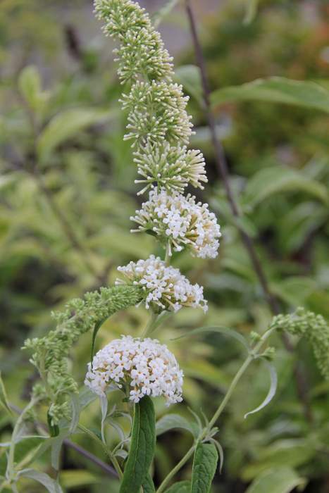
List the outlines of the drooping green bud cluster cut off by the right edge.
{"type": "Polygon", "coordinates": [[[319,370],[329,380],[329,325],[323,316],[297,308],[289,315],[274,317],[271,327],[305,337],[311,343],[319,370]]]}

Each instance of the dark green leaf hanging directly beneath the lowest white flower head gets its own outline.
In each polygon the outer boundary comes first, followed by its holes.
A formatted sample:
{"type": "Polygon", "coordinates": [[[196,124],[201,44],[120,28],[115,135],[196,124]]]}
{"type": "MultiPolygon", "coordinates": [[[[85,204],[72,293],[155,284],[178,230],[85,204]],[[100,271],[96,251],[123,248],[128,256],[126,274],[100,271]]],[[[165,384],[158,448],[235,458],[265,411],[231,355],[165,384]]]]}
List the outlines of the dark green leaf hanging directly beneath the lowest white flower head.
{"type": "Polygon", "coordinates": [[[154,456],[156,444],[155,413],[151,399],[143,397],[135,404],[130,451],[120,493],[139,493],[154,456]]]}

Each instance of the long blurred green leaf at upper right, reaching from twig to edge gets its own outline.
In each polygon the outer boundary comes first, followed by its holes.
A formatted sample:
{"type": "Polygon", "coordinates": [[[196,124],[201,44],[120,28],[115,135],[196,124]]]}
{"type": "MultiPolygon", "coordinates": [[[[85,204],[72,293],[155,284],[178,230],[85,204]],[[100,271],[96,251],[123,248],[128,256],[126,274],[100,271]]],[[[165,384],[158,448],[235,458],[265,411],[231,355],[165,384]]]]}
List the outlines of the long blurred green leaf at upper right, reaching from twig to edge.
{"type": "Polygon", "coordinates": [[[211,104],[228,101],[268,101],[313,108],[329,113],[329,91],[309,80],[285,77],[257,79],[240,86],[223,87],[211,94],[211,104]]]}

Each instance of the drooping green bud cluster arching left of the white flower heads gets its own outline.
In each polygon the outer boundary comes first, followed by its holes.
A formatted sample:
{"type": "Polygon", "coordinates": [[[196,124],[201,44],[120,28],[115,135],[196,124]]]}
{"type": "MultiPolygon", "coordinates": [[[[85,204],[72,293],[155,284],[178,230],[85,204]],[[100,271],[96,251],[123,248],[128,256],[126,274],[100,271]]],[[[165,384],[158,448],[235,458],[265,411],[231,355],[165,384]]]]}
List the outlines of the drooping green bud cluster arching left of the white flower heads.
{"type": "Polygon", "coordinates": [[[83,299],[73,299],[65,310],[53,313],[56,330],[44,337],[25,341],[25,349],[33,351],[30,362],[35,365],[42,377],[43,386],[35,385],[34,394],[50,402],[49,417],[55,425],[63,416],[70,413],[68,395],[77,392],[77,382],[73,378],[68,356],[73,344],[80,335],[117,311],[138,304],[144,294],[135,286],[103,287],[99,291],[85,294],[83,299]]]}

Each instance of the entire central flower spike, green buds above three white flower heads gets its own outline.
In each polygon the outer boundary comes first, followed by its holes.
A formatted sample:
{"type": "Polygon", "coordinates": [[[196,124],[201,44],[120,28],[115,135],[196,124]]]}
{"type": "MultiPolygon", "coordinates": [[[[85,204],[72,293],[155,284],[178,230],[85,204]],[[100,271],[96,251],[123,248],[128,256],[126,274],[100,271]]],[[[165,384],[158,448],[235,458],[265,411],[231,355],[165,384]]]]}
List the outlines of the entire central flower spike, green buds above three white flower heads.
{"type": "MultiPolygon", "coordinates": [[[[203,288],[192,285],[180,270],[169,265],[173,251],[187,249],[192,256],[215,258],[220,227],[208,204],[201,204],[188,186],[204,189],[204,156],[188,149],[192,135],[188,96],[173,80],[173,59],[151,24],[144,8],[132,0],[95,0],[95,12],[105,22],[103,30],[119,42],[118,76],[128,92],[120,102],[128,113],[128,133],[133,159],[142,185],[149,193],[131,219],[137,232],[151,232],[166,249],[166,259],[147,260],[119,267],[119,285],[137,285],[154,315],[177,312],[182,307],[207,310],[203,288]]],[[[86,385],[99,395],[115,385],[129,387],[129,399],[164,396],[167,404],[182,400],[182,371],[175,356],[156,339],[122,336],[101,349],[89,363],[86,385]]]]}

